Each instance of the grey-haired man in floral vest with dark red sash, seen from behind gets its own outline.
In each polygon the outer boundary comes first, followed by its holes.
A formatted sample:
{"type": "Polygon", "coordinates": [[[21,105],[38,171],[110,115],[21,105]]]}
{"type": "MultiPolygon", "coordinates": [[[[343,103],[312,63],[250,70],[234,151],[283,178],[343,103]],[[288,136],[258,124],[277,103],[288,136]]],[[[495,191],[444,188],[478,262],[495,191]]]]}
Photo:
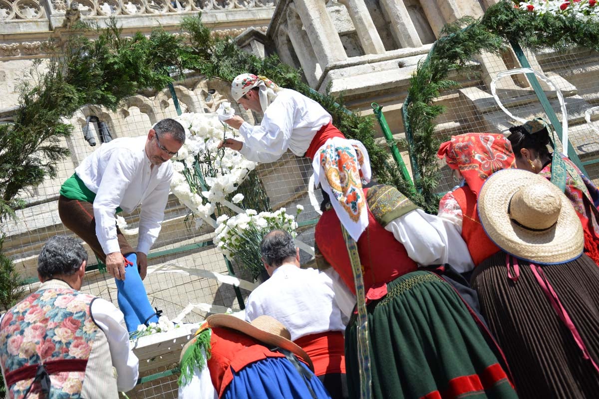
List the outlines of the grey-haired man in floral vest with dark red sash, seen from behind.
{"type": "Polygon", "coordinates": [[[139,361],[123,313],[81,293],[87,252],[54,236],[38,257],[40,288],[0,321],[0,366],[7,397],[118,398],[134,388],[139,361]]]}

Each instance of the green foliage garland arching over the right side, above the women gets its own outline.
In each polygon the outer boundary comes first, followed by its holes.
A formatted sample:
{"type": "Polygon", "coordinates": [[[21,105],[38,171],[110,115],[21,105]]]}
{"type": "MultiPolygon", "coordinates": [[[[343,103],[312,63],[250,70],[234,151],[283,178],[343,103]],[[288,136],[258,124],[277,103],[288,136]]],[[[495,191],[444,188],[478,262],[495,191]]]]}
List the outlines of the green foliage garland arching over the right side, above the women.
{"type": "Polygon", "coordinates": [[[425,209],[430,212],[436,212],[438,207],[440,179],[436,163],[440,142],[434,137],[433,122],[444,112],[443,106],[432,105],[432,101],[443,90],[458,86],[446,79],[447,74],[464,68],[482,51],[500,54],[510,42],[519,42],[531,50],[582,46],[598,51],[599,42],[592,38],[599,37],[599,22],[582,23],[573,15],[537,15],[515,8],[510,1],[502,1],[489,7],[478,20],[465,17],[446,25],[441,36],[410,79],[411,102],[407,107],[407,120],[413,133],[411,151],[420,172],[415,183],[425,209]]]}

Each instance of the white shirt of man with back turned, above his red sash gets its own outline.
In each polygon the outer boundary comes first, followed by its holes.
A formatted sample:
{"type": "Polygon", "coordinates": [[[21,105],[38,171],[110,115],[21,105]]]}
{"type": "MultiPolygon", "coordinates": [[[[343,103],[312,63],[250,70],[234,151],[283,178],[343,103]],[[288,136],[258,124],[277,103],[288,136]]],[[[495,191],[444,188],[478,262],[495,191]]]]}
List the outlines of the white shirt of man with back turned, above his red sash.
{"type": "Polygon", "coordinates": [[[271,316],[285,325],[292,341],[309,334],[345,331],[332,284],[326,273],[282,264],[248,297],[246,320],[271,316]]]}

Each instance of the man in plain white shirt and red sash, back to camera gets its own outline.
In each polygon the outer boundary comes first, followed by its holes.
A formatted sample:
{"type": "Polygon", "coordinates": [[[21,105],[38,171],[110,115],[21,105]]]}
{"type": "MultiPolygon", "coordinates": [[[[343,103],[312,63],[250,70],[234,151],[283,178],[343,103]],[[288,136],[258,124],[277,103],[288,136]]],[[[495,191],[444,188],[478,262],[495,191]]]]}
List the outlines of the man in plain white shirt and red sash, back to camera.
{"type": "Polygon", "coordinates": [[[267,315],[279,320],[310,356],[314,374],[332,398],[347,398],[343,331],[332,280],[314,269],[299,268],[299,248],[283,230],[262,239],[262,261],[271,277],[247,299],[246,320],[267,315]]]}

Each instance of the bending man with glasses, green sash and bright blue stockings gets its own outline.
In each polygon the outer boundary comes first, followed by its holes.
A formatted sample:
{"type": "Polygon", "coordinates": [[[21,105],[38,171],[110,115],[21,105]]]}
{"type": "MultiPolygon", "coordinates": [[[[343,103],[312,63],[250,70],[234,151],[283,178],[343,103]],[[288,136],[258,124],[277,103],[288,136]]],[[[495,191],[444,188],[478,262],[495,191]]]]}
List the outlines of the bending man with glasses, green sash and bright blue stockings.
{"type": "Polygon", "coordinates": [[[147,253],[158,237],[170,191],[171,157],[185,142],[179,122],[164,119],[147,136],[117,138],[87,156],[60,187],[58,213],[116,279],[127,330],[158,321],[142,280],[147,253]],[[137,250],[116,226],[116,213],[141,204],[137,250]],[[132,266],[132,267],[130,267],[132,266]],[[126,278],[125,278],[126,276],[126,278]]]}

